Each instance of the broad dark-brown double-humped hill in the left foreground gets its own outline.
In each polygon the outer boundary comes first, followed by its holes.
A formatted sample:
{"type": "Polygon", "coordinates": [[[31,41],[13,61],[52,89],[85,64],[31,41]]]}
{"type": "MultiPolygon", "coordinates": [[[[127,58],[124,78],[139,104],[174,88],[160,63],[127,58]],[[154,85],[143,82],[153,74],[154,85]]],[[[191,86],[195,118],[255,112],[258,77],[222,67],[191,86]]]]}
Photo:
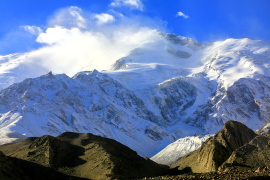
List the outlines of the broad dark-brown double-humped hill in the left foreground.
{"type": "Polygon", "coordinates": [[[64,132],[57,137],[28,137],[1,145],[0,150],[8,156],[35,163],[40,169],[49,168],[70,177],[135,179],[168,173],[167,166],[140,157],[113,139],[90,133],[64,132]]]}

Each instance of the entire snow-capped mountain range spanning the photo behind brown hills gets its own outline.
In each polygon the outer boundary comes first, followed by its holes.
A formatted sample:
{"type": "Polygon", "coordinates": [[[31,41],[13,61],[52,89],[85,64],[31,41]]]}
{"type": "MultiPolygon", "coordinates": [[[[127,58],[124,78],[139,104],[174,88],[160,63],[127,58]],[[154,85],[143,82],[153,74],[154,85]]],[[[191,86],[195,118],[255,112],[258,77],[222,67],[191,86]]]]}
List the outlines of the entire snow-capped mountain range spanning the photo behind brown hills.
{"type": "MultiPolygon", "coordinates": [[[[200,43],[151,33],[155,38],[138,44],[110,70],[73,77],[48,73],[3,89],[0,141],[91,132],[150,157],[178,138],[216,133],[229,119],[252,129],[269,120],[270,42],[200,43]]],[[[1,87],[42,73],[31,71],[25,57],[0,57],[1,87]]]]}

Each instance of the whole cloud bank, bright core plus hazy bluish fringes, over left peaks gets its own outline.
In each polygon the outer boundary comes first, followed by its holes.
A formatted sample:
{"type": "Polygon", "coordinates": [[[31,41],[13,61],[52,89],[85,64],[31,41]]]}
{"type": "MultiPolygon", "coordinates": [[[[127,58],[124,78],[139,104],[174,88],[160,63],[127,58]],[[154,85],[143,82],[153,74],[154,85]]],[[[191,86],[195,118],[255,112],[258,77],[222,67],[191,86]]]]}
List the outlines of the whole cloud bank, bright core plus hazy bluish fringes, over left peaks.
{"type": "Polygon", "coordinates": [[[153,29],[165,30],[163,24],[160,19],[127,17],[112,9],[97,14],[76,6],[61,8],[49,17],[43,31],[34,25],[20,27],[35,34],[41,47],[7,61],[5,69],[0,69],[0,82],[8,79],[5,84],[10,84],[49,71],[73,76],[78,71],[108,69],[130,50],[160,38],[153,29]]]}

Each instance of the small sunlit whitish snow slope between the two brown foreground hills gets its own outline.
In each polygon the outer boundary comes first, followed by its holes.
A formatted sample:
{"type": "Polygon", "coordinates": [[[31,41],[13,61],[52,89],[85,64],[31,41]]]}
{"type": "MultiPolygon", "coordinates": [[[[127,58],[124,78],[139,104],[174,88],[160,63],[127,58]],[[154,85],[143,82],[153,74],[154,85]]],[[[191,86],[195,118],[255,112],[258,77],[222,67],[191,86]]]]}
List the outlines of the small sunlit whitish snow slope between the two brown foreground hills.
{"type": "Polygon", "coordinates": [[[152,156],[150,159],[161,164],[172,165],[182,156],[198,149],[202,142],[214,134],[186,136],[179,138],[175,142],[168,144],[160,152],[152,156]]]}

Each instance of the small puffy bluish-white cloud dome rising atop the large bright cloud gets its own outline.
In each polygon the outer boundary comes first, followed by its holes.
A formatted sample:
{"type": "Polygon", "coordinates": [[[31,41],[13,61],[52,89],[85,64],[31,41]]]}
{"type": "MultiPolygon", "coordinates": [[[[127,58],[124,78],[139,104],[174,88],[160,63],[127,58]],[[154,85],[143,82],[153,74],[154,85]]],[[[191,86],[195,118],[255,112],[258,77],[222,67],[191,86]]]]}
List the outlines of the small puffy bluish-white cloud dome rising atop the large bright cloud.
{"type": "Polygon", "coordinates": [[[86,28],[87,21],[81,15],[82,10],[77,6],[70,6],[57,10],[49,19],[48,25],[60,25],[65,27],[79,27],[86,28]]]}

